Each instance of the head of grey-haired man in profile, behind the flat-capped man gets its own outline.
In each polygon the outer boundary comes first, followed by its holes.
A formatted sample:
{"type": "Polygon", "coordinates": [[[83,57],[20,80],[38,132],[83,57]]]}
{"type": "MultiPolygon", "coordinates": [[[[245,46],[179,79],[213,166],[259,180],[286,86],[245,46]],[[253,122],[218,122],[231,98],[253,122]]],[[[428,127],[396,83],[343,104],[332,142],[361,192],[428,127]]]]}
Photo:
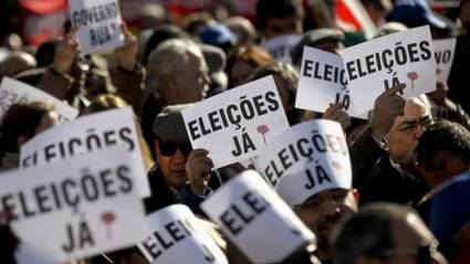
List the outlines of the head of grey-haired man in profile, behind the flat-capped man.
{"type": "Polygon", "coordinates": [[[173,39],[159,44],[147,60],[147,87],[142,113],[144,137],[153,150],[152,127],[167,105],[196,103],[206,97],[208,67],[198,45],[173,39]]]}

